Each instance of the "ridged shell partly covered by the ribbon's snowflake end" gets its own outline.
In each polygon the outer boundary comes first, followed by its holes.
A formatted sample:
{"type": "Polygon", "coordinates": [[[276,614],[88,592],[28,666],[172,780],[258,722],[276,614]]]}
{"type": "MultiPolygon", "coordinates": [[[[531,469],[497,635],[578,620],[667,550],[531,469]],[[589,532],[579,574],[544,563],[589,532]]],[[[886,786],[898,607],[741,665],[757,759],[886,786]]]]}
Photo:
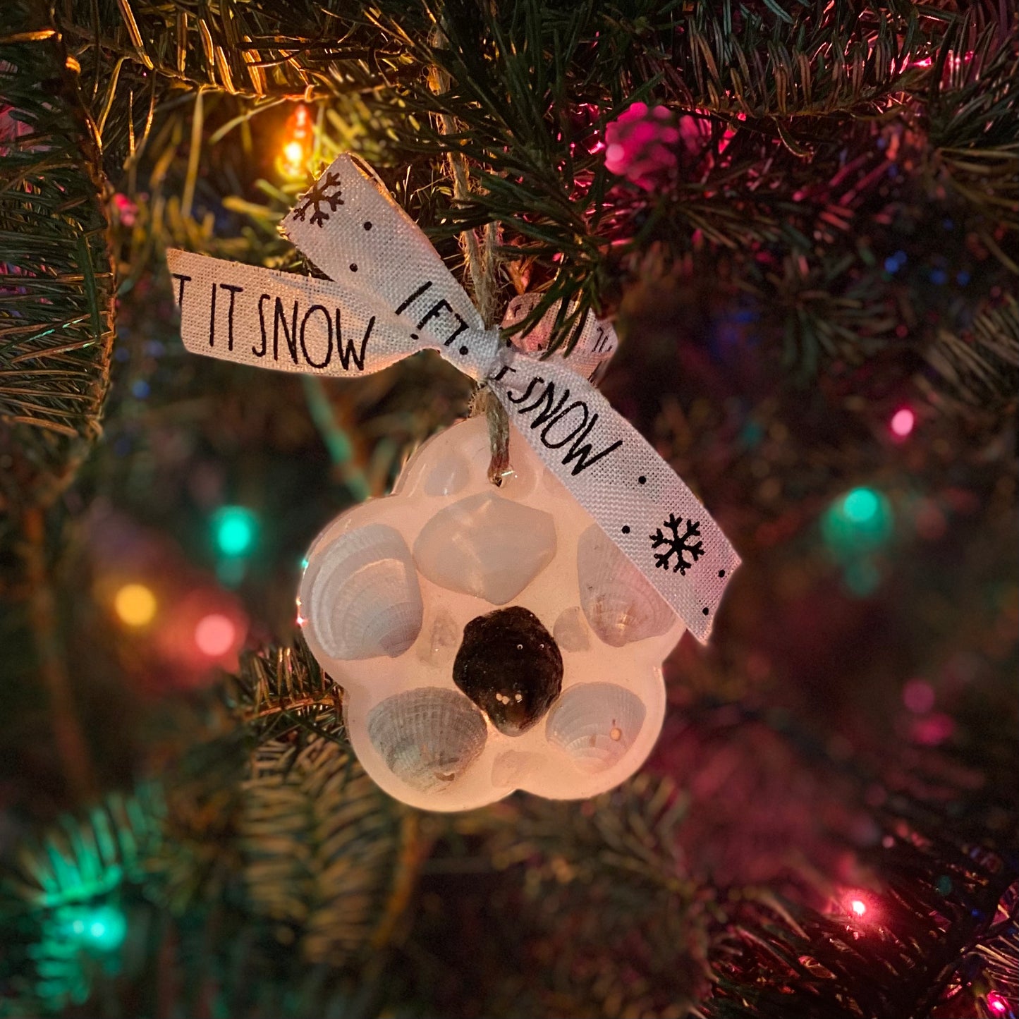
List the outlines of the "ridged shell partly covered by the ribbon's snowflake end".
{"type": "Polygon", "coordinates": [[[612,647],[663,634],[676,615],[596,524],[577,543],[580,603],[591,629],[612,647]]]}

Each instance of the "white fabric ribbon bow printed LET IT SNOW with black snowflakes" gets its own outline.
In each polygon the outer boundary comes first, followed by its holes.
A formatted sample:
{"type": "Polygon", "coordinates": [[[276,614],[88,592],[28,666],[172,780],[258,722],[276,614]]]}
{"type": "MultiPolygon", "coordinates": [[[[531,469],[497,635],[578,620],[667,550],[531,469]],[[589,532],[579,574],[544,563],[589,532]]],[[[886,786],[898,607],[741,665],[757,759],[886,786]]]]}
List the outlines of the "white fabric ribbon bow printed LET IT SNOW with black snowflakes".
{"type": "MultiPolygon", "coordinates": [[[[435,350],[484,380],[548,469],[707,640],[739,556],[689,488],[587,379],[615,347],[588,315],[569,359],[538,361],[485,329],[428,238],[350,156],[283,220],[330,279],[168,251],[195,353],[279,371],[367,375],[435,350]]],[[[543,345],[554,309],[524,337],[543,345]],[[539,331],[540,330],[540,331],[539,331]]]]}

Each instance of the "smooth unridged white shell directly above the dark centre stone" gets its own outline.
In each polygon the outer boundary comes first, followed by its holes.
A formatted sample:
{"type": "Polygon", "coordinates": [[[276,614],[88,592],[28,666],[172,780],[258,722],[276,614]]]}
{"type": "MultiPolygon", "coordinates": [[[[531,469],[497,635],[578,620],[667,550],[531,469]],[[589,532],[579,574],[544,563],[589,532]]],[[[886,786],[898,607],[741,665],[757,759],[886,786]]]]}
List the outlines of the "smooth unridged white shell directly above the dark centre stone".
{"type": "Polygon", "coordinates": [[[504,605],[555,555],[551,514],[490,492],[440,509],[414,543],[418,569],[433,584],[504,605]]]}

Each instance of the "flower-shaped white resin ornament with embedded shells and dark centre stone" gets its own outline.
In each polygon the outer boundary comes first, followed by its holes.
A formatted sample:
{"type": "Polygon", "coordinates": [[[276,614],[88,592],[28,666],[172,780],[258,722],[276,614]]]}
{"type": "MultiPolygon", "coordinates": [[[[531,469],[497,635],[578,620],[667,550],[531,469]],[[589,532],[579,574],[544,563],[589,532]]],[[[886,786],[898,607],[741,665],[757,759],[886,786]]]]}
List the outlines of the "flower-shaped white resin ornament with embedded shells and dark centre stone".
{"type": "Polygon", "coordinates": [[[365,769],[429,810],[629,777],[684,631],[518,432],[498,488],[489,459],[484,417],[429,440],[392,495],[319,535],[298,598],[365,769]]]}

